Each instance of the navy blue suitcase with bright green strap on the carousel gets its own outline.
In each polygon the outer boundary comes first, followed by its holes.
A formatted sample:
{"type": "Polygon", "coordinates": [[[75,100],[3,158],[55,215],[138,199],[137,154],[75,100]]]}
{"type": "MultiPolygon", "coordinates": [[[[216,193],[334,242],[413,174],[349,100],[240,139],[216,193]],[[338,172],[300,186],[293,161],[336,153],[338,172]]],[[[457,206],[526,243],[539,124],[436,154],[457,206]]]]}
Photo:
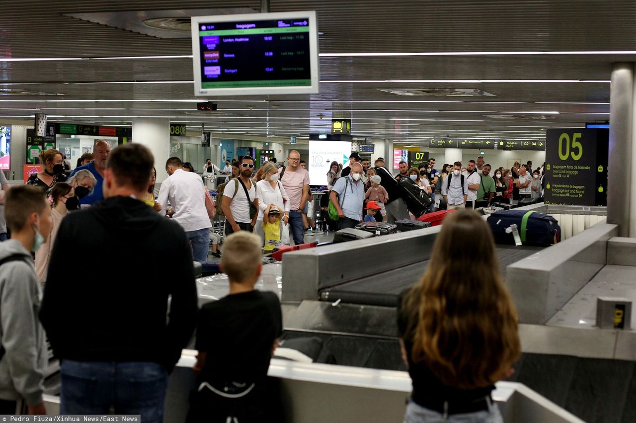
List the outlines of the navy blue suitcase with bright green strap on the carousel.
{"type": "Polygon", "coordinates": [[[538,211],[502,210],[488,216],[486,222],[497,244],[515,244],[512,233],[506,229],[517,226],[523,245],[547,246],[561,241],[561,227],[558,220],[538,211]]]}

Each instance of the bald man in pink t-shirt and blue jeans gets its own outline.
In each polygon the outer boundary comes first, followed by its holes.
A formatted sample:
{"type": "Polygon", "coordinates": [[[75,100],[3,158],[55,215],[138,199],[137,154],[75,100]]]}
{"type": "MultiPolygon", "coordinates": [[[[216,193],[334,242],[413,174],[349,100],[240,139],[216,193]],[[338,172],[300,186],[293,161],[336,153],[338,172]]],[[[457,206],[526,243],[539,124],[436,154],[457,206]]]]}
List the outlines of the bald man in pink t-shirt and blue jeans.
{"type": "MultiPolygon", "coordinates": [[[[289,166],[280,168],[280,183],[289,196],[289,229],[295,245],[305,243],[303,212],[307,213],[307,196],[309,194],[309,172],[300,167],[300,153],[296,150],[289,152],[287,157],[289,166]]],[[[287,227],[283,226],[283,231],[287,227]]]]}

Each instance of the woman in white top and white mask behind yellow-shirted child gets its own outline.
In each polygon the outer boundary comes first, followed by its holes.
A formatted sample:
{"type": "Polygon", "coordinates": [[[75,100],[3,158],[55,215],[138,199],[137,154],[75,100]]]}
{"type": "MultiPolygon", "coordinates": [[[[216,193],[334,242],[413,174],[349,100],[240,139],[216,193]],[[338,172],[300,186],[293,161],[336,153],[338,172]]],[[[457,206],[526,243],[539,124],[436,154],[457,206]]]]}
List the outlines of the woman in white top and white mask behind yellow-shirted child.
{"type": "Polygon", "coordinates": [[[266,161],[262,166],[263,179],[256,182],[256,192],[258,194],[258,217],[256,218],[256,234],[261,237],[261,241],[265,242],[263,238],[263,215],[265,209],[269,205],[275,205],[282,210],[282,217],[280,218],[280,230],[289,231],[287,223],[289,222],[289,196],[285,191],[285,187],[279,181],[278,170],[279,167],[276,163],[266,161]]]}

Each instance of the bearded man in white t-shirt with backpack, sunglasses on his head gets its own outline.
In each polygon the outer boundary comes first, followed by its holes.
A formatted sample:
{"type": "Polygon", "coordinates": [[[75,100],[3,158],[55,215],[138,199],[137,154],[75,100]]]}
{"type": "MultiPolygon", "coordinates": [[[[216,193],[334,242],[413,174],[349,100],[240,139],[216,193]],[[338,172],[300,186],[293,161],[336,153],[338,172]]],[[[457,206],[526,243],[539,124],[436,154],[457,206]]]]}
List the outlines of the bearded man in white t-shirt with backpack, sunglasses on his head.
{"type": "Polygon", "coordinates": [[[258,218],[258,192],[252,181],[254,159],[244,156],[240,163],[240,177],[228,180],[223,189],[223,214],[225,215],[225,235],[239,231],[252,232],[258,218]]]}

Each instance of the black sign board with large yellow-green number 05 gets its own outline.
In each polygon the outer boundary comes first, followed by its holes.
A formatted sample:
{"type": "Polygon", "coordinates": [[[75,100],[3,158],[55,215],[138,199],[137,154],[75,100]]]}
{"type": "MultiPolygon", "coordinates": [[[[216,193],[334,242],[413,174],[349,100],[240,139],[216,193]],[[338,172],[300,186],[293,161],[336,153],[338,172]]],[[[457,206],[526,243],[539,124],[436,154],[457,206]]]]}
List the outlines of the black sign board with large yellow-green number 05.
{"type": "Polygon", "coordinates": [[[607,206],[609,130],[551,129],[546,142],[546,204],[607,206]]]}

